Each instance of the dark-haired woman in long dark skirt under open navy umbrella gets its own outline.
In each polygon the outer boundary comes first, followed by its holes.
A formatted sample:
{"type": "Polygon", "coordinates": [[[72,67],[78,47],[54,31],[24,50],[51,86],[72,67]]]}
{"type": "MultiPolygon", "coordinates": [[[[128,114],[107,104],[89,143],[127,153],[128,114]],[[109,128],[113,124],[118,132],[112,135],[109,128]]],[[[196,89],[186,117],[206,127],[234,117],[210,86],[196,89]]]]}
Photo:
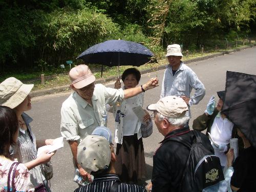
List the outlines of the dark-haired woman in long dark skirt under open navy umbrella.
{"type": "MultiPolygon", "coordinates": [[[[135,88],[140,81],[141,74],[135,68],[126,69],[122,74],[123,89],[135,88]]],[[[120,89],[121,83],[115,83],[115,89],[120,89]]],[[[144,92],[125,99],[120,105],[111,107],[115,117],[116,173],[121,182],[137,184],[146,176],[144,148],[141,127],[153,126],[150,115],[145,112],[143,122],[133,112],[133,108],[143,106],[144,92]]]]}

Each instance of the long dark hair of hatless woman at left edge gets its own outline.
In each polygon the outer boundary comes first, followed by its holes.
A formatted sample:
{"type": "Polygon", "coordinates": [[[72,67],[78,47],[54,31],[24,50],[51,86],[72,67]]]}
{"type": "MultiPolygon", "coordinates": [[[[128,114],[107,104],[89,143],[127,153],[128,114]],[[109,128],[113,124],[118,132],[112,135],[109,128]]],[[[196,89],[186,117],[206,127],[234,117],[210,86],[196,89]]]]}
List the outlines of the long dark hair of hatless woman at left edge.
{"type": "Polygon", "coordinates": [[[10,158],[9,148],[18,129],[16,113],[8,106],[0,106],[0,155],[10,158]]]}

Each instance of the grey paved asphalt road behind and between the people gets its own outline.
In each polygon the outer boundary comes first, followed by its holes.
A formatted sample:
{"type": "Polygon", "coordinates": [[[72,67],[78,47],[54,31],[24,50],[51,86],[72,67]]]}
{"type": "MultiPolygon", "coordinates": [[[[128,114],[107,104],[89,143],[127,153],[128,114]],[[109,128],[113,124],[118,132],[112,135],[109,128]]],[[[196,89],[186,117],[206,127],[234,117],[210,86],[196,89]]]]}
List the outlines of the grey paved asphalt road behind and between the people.
{"type": "MultiPolygon", "coordinates": [[[[204,112],[210,96],[215,95],[218,98],[216,91],[225,89],[227,70],[256,75],[256,48],[249,48],[240,52],[190,63],[188,66],[198,75],[206,88],[206,95],[203,100],[198,105],[191,107],[192,119],[189,123],[191,126],[193,119],[204,112]]],[[[160,84],[162,83],[163,73],[164,70],[157,73],[160,84]]],[[[156,72],[142,75],[140,84],[155,76],[156,72]]],[[[106,86],[114,87],[113,82],[108,83],[106,86]]],[[[161,86],[145,93],[144,108],[148,104],[158,101],[160,91],[161,86]]],[[[46,95],[32,99],[32,110],[28,114],[34,119],[31,125],[37,139],[60,137],[61,103],[70,93],[46,95]]],[[[112,131],[114,131],[113,122],[112,114],[109,114],[108,126],[112,131]]],[[[162,139],[163,136],[159,134],[155,125],[152,136],[143,139],[147,180],[151,178],[152,174],[153,154],[162,139]]],[[[72,181],[74,172],[72,154],[66,141],[65,146],[52,157],[52,163],[54,167],[54,176],[51,180],[52,190],[56,192],[73,191],[77,184],[72,181]]]]}

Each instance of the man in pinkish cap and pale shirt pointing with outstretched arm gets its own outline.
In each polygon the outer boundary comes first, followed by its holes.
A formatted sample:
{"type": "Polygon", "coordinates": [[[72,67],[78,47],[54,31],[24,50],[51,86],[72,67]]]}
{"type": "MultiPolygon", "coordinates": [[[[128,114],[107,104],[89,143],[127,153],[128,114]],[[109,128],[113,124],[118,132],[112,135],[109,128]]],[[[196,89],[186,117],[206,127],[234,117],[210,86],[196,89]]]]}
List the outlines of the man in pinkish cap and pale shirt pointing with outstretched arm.
{"type": "Polygon", "coordinates": [[[91,135],[97,126],[106,126],[107,115],[105,104],[114,104],[138,95],[158,86],[158,79],[152,78],[140,87],[132,89],[106,88],[103,84],[95,84],[95,76],[88,66],[79,65],[70,70],[70,87],[74,90],[61,107],[61,135],[69,141],[74,165],[83,179],[91,180],[88,174],[77,163],[77,146],[86,136],[91,135]]]}

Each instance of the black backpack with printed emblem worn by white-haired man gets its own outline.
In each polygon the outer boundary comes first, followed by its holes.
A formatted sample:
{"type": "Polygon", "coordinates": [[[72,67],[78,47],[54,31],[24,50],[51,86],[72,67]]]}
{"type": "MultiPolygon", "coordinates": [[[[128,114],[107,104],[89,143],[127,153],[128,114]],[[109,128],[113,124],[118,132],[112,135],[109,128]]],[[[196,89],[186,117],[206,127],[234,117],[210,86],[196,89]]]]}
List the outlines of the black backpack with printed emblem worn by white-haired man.
{"type": "MultiPolygon", "coordinates": [[[[169,137],[166,141],[179,142],[189,148],[190,153],[180,183],[180,191],[222,191],[226,187],[219,157],[203,144],[200,132],[193,132],[193,143],[181,136],[169,137]]],[[[202,134],[203,135],[203,134],[202,134]]],[[[204,135],[205,136],[205,135],[204,135]]]]}

